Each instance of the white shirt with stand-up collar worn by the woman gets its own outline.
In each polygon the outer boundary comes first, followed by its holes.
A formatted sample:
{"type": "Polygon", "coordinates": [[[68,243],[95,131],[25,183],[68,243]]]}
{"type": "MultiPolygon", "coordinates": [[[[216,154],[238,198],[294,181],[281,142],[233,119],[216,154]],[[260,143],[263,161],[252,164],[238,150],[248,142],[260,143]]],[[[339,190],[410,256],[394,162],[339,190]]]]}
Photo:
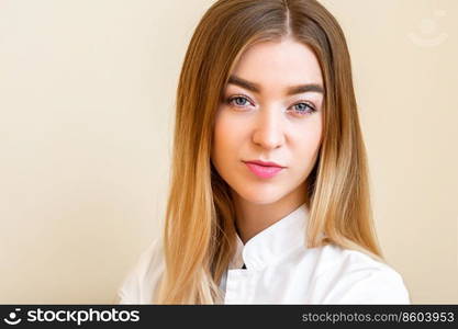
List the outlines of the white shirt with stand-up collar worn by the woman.
{"type": "MultiPolygon", "coordinates": [[[[402,276],[369,256],[335,245],[305,247],[305,204],[243,245],[224,273],[224,304],[410,304],[402,276]],[[245,263],[246,269],[242,269],[245,263]]],[[[118,291],[120,304],[152,304],[164,271],[154,240],[118,291]]]]}

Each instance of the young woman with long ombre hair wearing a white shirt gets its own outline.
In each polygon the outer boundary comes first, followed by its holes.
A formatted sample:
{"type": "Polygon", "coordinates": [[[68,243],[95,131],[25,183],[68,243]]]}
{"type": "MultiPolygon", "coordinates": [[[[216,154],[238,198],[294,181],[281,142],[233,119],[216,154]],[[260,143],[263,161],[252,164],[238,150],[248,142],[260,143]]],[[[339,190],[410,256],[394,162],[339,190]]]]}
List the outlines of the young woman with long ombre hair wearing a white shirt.
{"type": "Polygon", "coordinates": [[[182,66],[166,225],[121,304],[409,304],[378,247],[344,34],[315,0],[220,0],[182,66]]]}

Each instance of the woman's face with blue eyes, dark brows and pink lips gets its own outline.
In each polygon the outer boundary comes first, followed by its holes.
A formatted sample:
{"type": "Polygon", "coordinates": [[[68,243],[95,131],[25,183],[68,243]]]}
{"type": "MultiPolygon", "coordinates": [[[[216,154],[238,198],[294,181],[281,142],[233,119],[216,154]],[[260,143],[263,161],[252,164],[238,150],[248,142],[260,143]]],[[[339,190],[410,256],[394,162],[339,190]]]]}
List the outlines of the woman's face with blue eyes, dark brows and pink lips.
{"type": "Polygon", "coordinates": [[[323,93],[308,46],[283,39],[245,50],[223,91],[211,156],[233,192],[269,204],[305,191],[320,149],[323,93]],[[282,168],[247,163],[256,160],[282,168]]]}

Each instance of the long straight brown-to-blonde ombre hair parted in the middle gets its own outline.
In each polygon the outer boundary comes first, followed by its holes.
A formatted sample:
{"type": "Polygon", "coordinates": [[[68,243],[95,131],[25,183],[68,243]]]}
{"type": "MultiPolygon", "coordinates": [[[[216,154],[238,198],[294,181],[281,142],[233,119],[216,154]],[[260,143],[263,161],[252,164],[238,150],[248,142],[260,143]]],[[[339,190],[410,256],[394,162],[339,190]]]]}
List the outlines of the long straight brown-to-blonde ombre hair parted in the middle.
{"type": "Polygon", "coordinates": [[[179,77],[165,271],[155,304],[223,303],[219,284],[235,252],[236,230],[230,186],[211,162],[215,112],[243,52],[284,37],[314,52],[325,88],[322,145],[308,177],[306,247],[334,243],[383,261],[350,57],[337,21],[315,0],[219,0],[198,24],[179,77]]]}

